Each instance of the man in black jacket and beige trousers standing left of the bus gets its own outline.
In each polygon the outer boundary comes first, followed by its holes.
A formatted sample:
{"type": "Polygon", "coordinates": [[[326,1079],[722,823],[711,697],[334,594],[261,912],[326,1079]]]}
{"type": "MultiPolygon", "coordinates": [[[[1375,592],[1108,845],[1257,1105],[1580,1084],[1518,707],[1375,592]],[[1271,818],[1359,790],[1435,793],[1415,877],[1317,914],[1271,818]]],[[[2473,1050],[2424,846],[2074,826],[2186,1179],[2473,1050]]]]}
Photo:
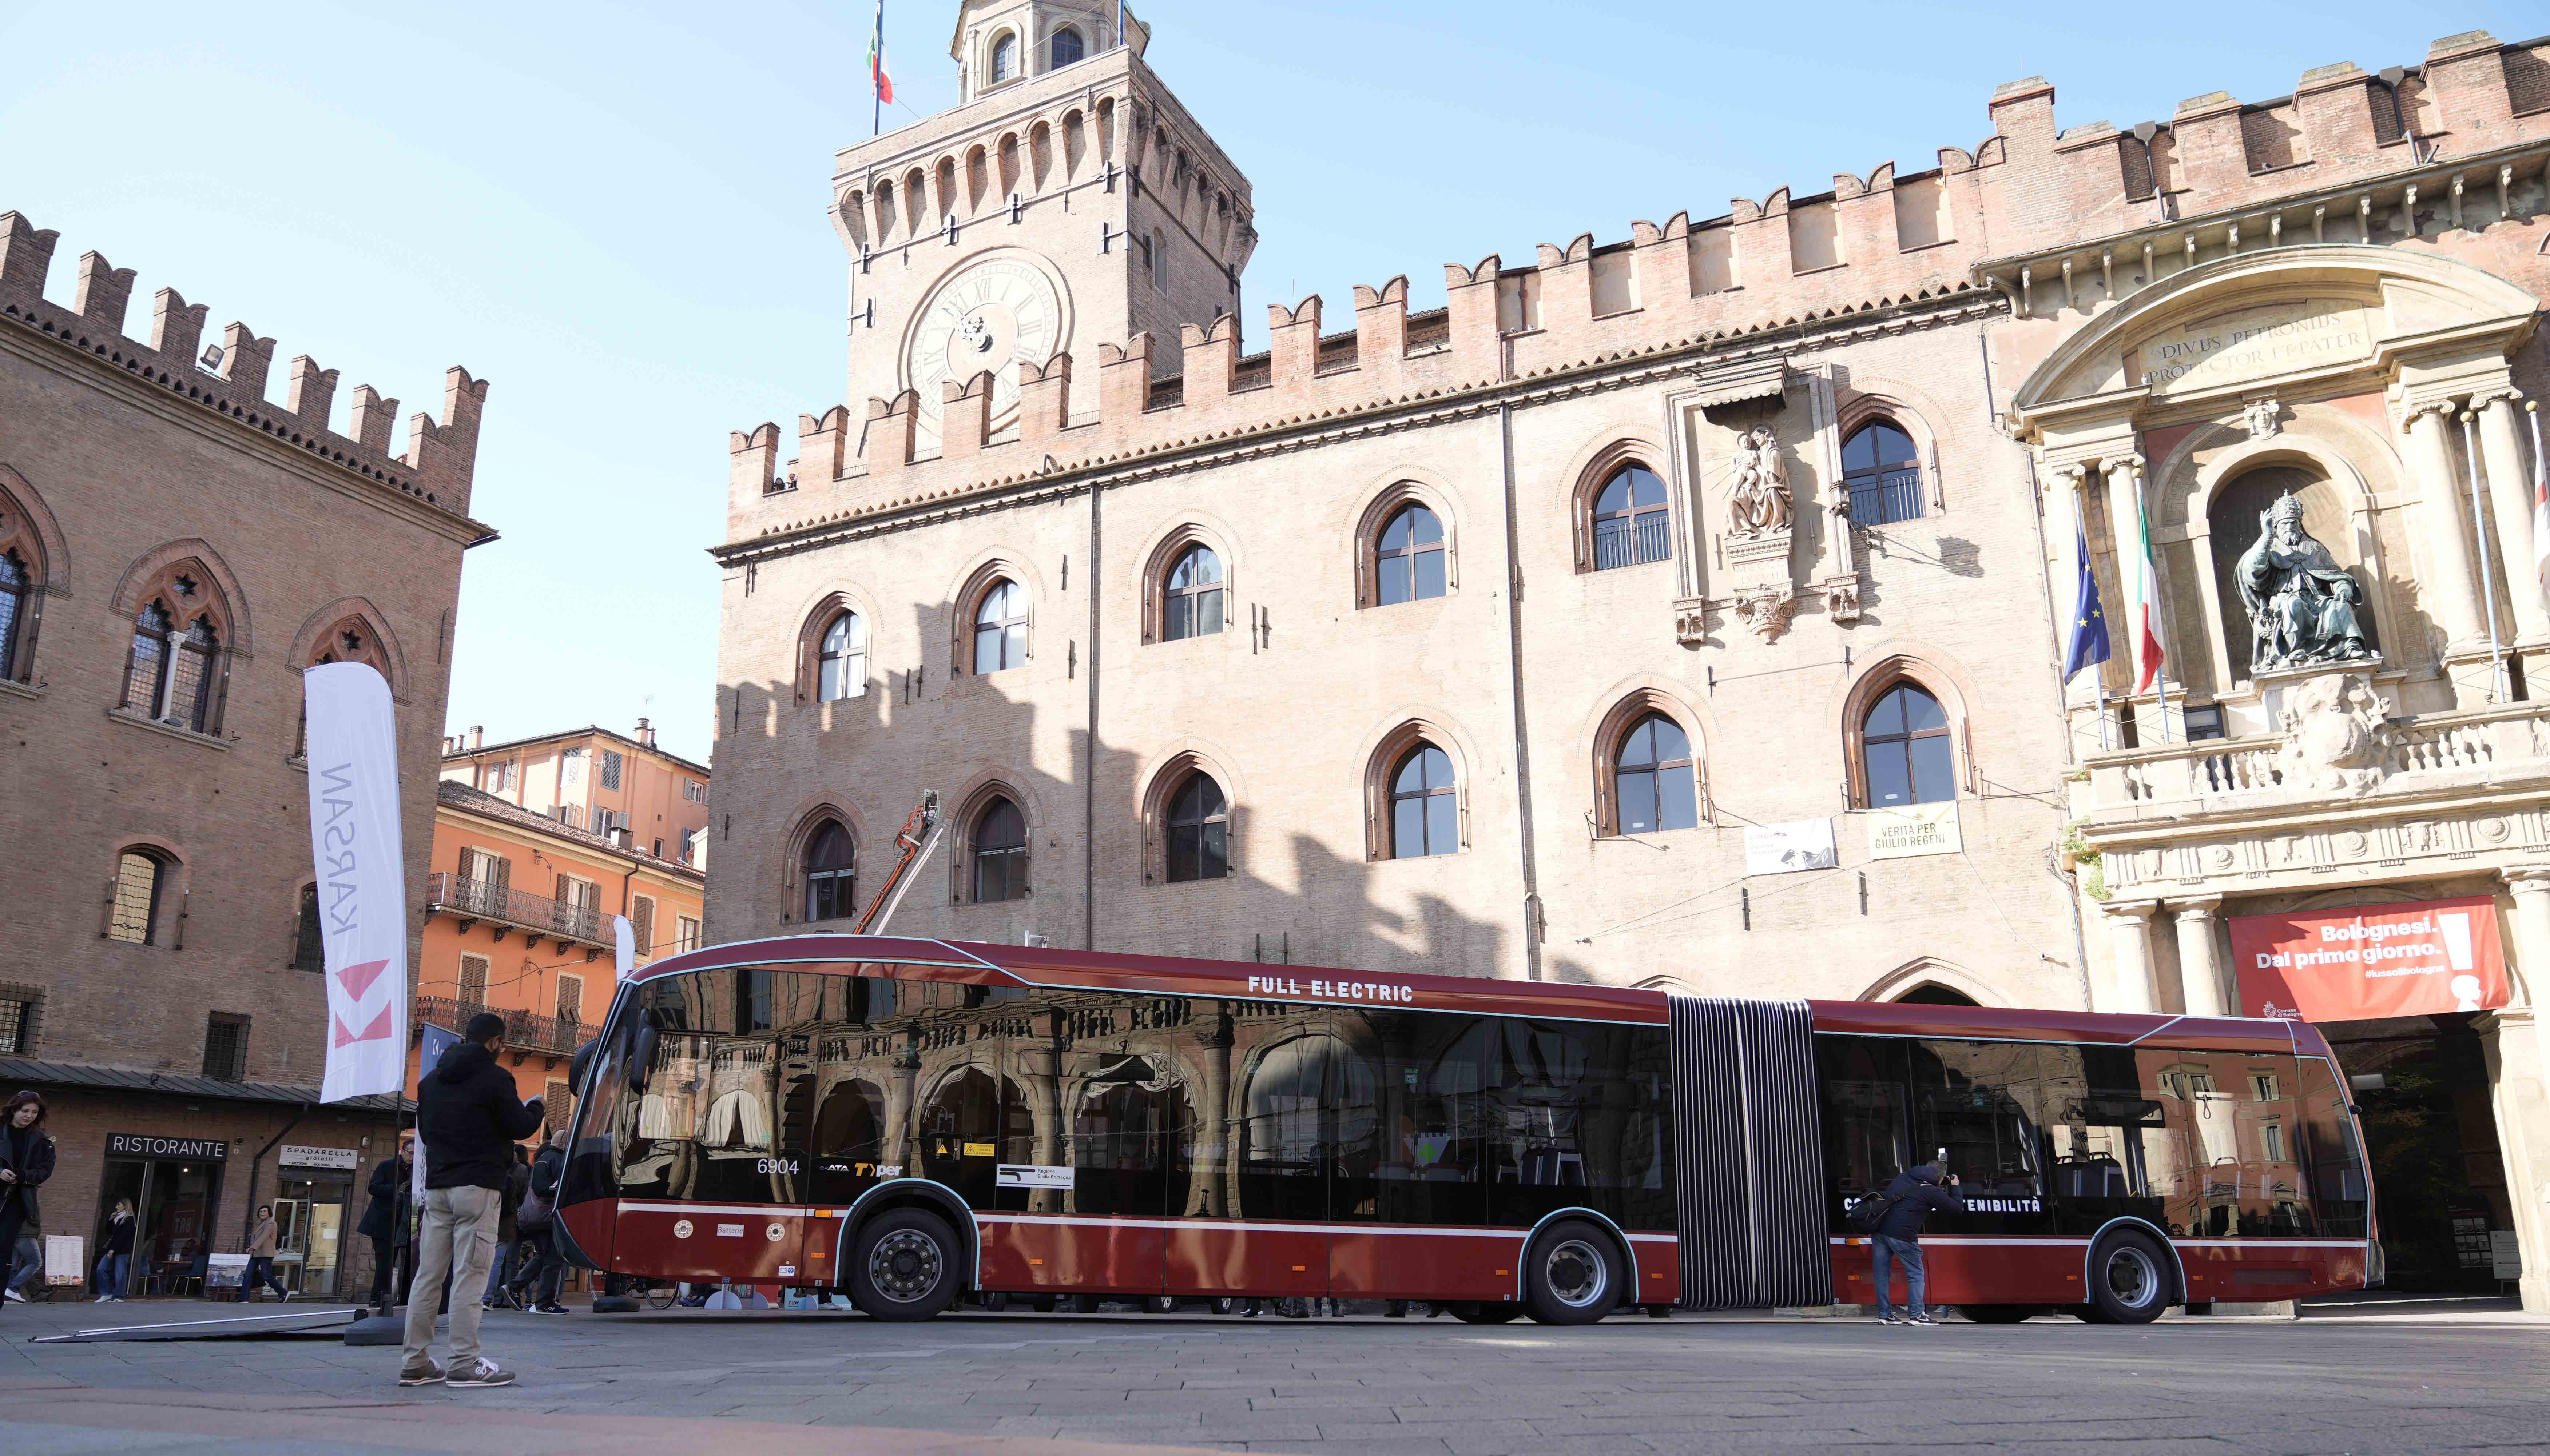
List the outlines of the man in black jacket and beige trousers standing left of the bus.
{"type": "Polygon", "coordinates": [[[408,1290],[408,1349],[400,1385],[477,1390],[513,1385],[513,1372],[479,1357],[484,1306],[469,1298],[487,1285],[497,1214],[513,1145],[541,1127],[541,1099],[520,1102],[513,1074],[497,1066],[505,1017],[469,1017],[462,1040],[416,1079],[416,1137],[426,1158],[426,1219],[418,1232],[416,1283],[408,1290]],[[456,1267],[454,1267],[456,1265],[456,1267]],[[451,1367],[433,1364],[436,1290],[451,1275],[451,1367]]]}

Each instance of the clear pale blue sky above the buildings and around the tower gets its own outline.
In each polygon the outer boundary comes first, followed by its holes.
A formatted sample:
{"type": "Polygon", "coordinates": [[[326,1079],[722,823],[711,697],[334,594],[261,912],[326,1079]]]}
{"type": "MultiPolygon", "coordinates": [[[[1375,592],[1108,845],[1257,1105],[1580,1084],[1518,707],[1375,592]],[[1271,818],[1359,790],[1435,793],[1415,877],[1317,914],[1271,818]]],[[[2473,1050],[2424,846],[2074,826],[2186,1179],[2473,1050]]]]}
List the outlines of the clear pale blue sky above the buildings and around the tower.
{"type": "MultiPolygon", "coordinates": [[[[905,107],[954,99],[954,0],[895,0],[905,107]]],[[[2550,28],[2542,5],[2198,10],[1415,0],[1137,5],[1150,61],[1257,189],[1242,311],[1448,260],[1823,191],[1986,135],[1992,87],[2058,120],[2287,94],[2310,66],[2550,28]]],[[[834,148],[867,133],[870,5],[599,8],[0,0],[0,209],[97,247],[283,360],[441,411],[495,380],[449,727],[518,737],[653,711],[709,752],[727,431],[841,403],[834,148]]],[[[1331,306],[1334,316],[1334,306],[1331,306]]],[[[857,405],[857,400],[849,400],[857,405]]],[[[405,441],[405,426],[398,439],[405,441]]]]}

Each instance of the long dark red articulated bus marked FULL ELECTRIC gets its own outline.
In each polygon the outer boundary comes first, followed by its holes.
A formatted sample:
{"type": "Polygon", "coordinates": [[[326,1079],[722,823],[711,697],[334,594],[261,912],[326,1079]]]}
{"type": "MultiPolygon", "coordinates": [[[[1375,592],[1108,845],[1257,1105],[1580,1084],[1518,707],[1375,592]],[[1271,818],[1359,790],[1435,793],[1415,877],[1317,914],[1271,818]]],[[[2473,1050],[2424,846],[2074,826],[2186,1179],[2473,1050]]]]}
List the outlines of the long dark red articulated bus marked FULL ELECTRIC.
{"type": "Polygon", "coordinates": [[[612,1005],[571,1260],[956,1300],[1331,1295],[1469,1321],[1874,1303],[1846,1211],[1969,1318],[2364,1288],[2372,1191],[2310,1025],[785,936],[612,1005]]]}

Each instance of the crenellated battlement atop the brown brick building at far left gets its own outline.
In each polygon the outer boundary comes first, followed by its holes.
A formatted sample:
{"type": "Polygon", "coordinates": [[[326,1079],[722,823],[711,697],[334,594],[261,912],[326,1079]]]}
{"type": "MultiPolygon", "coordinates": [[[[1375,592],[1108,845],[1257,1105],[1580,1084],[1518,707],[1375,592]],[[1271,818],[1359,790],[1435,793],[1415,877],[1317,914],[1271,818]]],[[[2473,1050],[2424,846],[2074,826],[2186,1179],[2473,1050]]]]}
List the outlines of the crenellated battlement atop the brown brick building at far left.
{"type": "Polygon", "coordinates": [[[372,385],[357,385],[347,433],[337,433],[329,428],[337,370],[298,354],[288,365],[283,403],[275,405],[265,393],[275,342],[247,324],[224,324],[214,357],[204,349],[209,309],[189,303],[176,288],[161,288],[153,296],[148,344],[125,337],[133,270],[110,265],[94,250],[79,255],[71,303],[54,303],[43,296],[43,286],[54,265],[56,240],[54,229],[38,229],[15,212],[0,212],[0,326],[46,334],[158,385],[173,398],[204,405],[240,428],[273,436],[436,510],[469,515],[487,380],[454,365],[444,375],[441,423],[418,411],[408,421],[408,451],[393,456],[390,421],[398,416],[398,400],[372,385]]]}

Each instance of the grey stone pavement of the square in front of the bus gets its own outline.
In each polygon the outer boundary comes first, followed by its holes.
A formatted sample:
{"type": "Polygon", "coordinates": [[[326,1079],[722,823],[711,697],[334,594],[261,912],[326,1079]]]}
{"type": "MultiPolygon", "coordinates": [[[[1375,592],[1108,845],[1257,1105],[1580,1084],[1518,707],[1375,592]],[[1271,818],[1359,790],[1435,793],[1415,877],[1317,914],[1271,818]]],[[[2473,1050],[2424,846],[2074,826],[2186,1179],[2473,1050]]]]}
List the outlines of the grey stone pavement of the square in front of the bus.
{"type": "MultiPolygon", "coordinates": [[[[497,1313],[487,1349],[523,1382],[482,1392],[400,1390],[395,1346],[339,1339],[28,1344],[97,1313],[0,1313],[0,1420],[13,1446],[48,1456],[2550,1451],[2550,1321],[2456,1306],[2145,1329],[497,1313]]],[[[189,1313],[240,1311],[122,1306],[115,1318],[189,1313]]]]}

